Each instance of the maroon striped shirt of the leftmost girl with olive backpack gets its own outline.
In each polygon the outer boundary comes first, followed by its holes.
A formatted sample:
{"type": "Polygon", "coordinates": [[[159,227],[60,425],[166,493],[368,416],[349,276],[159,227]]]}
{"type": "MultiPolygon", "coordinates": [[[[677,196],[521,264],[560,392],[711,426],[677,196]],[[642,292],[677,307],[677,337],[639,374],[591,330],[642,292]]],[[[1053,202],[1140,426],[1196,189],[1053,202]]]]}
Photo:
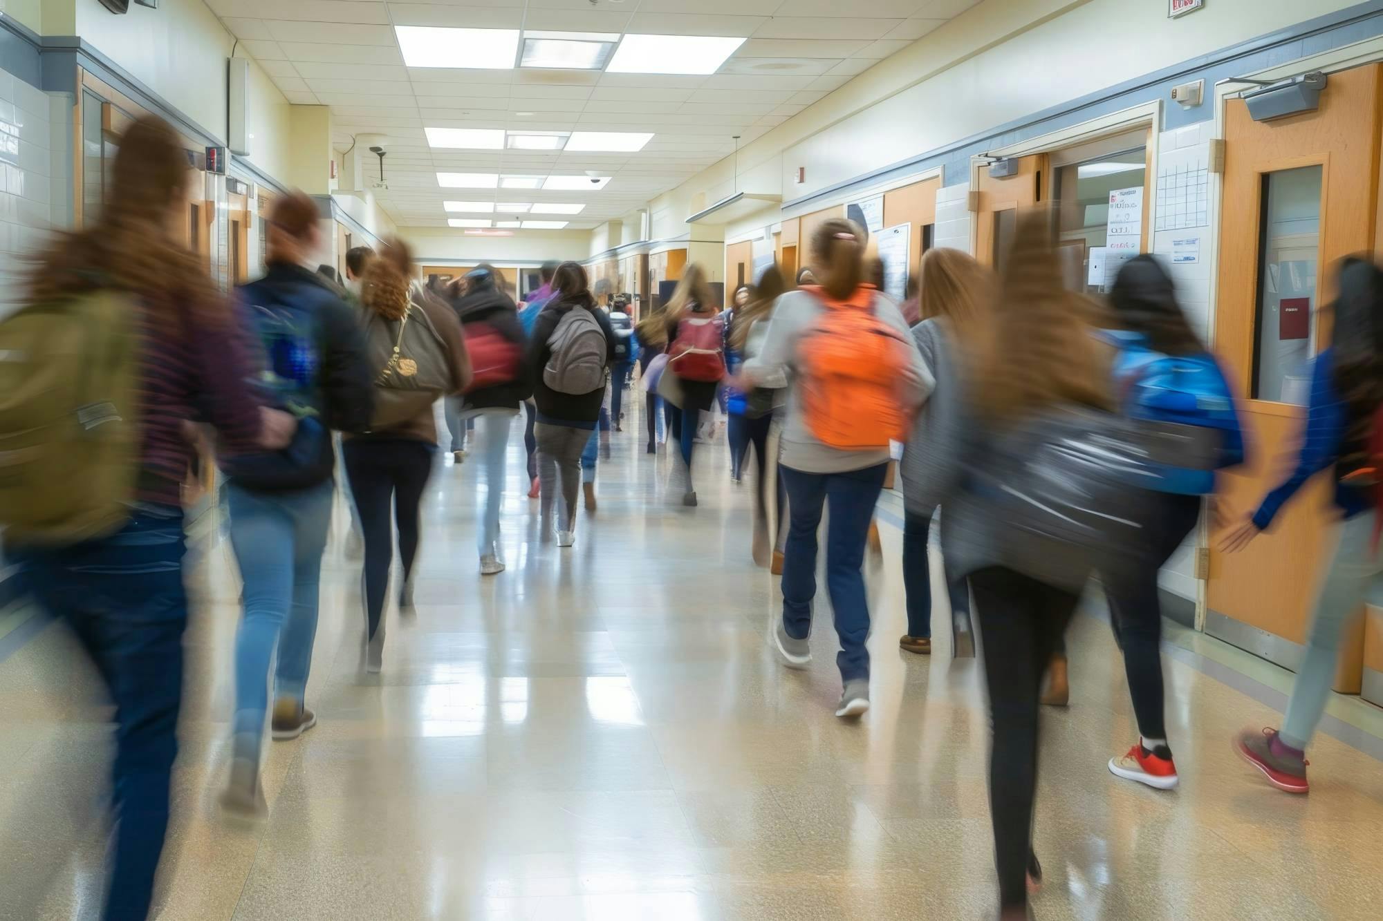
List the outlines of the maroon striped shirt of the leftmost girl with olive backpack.
{"type": "Polygon", "coordinates": [[[224,329],[181,317],[169,324],[148,304],[140,311],[141,502],[181,505],[183,483],[196,461],[184,422],[209,422],[230,454],[259,449],[260,401],[250,389],[254,343],[227,313],[224,329]]]}

